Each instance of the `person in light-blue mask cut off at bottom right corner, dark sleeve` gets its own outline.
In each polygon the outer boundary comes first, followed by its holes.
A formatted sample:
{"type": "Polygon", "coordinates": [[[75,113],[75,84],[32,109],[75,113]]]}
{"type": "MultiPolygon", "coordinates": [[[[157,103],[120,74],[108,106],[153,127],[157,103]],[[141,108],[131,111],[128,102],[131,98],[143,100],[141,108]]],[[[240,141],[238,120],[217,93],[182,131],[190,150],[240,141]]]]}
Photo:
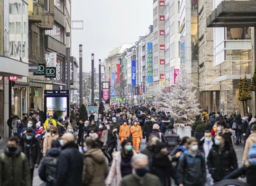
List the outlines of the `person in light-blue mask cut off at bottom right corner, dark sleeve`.
{"type": "Polygon", "coordinates": [[[231,172],[223,178],[226,179],[236,179],[240,176],[246,176],[246,182],[251,186],[256,186],[255,175],[256,175],[256,145],[252,145],[248,151],[248,160],[244,165],[231,172]]]}

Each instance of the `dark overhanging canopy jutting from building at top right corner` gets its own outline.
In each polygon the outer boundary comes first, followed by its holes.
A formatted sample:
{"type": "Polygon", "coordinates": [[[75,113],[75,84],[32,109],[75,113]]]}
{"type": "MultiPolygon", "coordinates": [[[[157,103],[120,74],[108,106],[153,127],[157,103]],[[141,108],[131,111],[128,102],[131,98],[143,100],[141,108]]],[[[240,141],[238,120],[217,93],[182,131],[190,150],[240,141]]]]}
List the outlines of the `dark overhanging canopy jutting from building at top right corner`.
{"type": "Polygon", "coordinates": [[[206,19],[211,27],[256,26],[256,1],[221,1],[206,19]]]}

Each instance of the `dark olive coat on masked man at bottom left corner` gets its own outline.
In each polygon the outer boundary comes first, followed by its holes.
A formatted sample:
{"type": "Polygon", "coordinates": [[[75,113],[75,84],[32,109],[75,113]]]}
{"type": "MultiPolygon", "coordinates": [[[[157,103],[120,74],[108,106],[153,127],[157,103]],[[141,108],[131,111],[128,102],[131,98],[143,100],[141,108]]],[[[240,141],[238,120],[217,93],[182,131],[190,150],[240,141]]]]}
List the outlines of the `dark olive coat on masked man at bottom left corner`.
{"type": "Polygon", "coordinates": [[[0,156],[0,186],[31,186],[28,158],[19,147],[13,153],[6,147],[0,156]]]}

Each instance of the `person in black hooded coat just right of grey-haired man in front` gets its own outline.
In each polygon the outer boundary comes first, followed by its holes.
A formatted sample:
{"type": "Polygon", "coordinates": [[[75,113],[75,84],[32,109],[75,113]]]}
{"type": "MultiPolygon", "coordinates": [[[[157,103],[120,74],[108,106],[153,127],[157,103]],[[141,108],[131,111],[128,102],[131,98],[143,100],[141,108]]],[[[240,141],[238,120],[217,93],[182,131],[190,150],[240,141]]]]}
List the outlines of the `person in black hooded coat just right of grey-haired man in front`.
{"type": "Polygon", "coordinates": [[[161,185],[171,185],[170,177],[174,178],[177,183],[176,172],[172,167],[172,157],[169,155],[167,145],[163,142],[156,143],[155,154],[151,163],[150,171],[158,176],[161,180],[161,185]]]}

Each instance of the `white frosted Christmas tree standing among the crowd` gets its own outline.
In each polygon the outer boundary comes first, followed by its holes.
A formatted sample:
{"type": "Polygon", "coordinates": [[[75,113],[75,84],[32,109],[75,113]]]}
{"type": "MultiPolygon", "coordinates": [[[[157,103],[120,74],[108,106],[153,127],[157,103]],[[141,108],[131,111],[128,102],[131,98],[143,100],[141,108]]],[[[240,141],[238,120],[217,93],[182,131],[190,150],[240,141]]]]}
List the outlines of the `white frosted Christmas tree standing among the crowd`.
{"type": "Polygon", "coordinates": [[[156,104],[161,110],[172,114],[174,127],[191,125],[195,116],[199,114],[195,87],[186,65],[182,63],[176,85],[164,86],[158,91],[156,104]]]}

